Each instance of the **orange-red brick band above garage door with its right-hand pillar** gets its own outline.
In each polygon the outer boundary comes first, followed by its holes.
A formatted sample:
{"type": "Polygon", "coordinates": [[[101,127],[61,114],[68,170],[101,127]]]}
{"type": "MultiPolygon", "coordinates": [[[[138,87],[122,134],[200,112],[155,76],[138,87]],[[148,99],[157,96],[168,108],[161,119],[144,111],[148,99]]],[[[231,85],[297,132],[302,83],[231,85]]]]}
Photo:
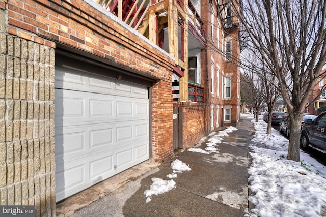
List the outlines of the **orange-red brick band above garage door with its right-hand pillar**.
{"type": "Polygon", "coordinates": [[[152,94],[153,154],[156,161],[172,155],[170,57],[81,0],[8,0],[7,8],[9,34],[52,48],[60,42],[161,79],[152,94]]]}

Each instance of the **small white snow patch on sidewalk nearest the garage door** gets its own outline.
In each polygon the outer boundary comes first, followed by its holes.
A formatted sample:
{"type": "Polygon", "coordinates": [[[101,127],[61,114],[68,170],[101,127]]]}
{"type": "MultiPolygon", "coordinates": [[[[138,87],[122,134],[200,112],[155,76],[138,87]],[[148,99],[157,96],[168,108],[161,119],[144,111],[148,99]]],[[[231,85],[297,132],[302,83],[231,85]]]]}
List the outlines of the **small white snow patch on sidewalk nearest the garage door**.
{"type": "MultiPolygon", "coordinates": [[[[167,175],[168,178],[177,178],[178,175],[176,173],[182,173],[182,171],[191,170],[189,165],[186,165],[178,159],[174,160],[171,163],[171,168],[173,173],[167,175]]],[[[173,179],[164,180],[161,178],[152,178],[152,181],[153,183],[151,184],[150,189],[144,191],[144,195],[146,196],[146,203],[152,200],[152,195],[160,195],[175,188],[175,181],[173,179]]]]}

